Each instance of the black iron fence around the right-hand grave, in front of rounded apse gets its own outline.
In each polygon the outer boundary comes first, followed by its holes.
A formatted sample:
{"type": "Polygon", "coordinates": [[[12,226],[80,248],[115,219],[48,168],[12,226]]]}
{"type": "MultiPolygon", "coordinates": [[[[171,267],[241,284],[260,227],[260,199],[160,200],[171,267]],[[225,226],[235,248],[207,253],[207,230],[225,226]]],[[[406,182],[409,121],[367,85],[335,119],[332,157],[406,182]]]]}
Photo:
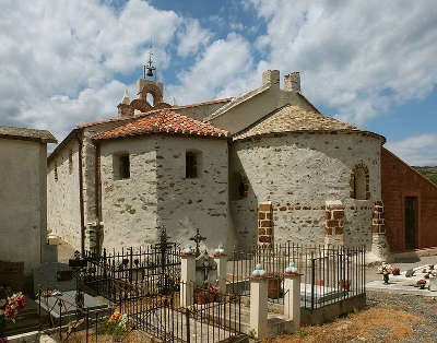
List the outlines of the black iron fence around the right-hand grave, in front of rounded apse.
{"type": "Polygon", "coordinates": [[[365,293],[365,248],[304,246],[293,243],[252,251],[234,251],[228,260],[227,292],[249,295],[249,276],[259,263],[269,276],[269,300],[283,304],[290,262],[302,274],[302,307],[316,309],[365,293]]]}

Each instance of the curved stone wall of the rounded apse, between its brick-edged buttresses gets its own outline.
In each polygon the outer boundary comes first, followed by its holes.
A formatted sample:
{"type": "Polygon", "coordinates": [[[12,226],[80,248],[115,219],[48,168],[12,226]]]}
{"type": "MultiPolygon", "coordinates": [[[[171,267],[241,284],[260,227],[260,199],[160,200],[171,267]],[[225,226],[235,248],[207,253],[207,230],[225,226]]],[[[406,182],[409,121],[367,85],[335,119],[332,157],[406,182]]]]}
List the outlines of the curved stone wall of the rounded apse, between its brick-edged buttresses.
{"type": "Polygon", "coordinates": [[[380,200],[380,141],[357,133],[287,133],[236,141],[231,175],[244,173],[247,198],[232,201],[238,244],[257,240],[257,208],[272,202],[274,243],[324,244],[326,201],[344,206],[344,244],[371,245],[375,201],[380,200]],[[350,198],[353,168],[369,172],[369,199],[350,198]],[[253,211],[255,210],[255,211],[253,211]]]}

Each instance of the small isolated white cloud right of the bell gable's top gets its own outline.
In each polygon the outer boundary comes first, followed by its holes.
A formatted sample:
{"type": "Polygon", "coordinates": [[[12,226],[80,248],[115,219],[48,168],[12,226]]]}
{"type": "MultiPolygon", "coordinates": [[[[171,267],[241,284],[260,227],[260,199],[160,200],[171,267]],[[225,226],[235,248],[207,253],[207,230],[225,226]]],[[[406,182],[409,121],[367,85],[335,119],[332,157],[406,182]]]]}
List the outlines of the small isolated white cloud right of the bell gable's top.
{"type": "Polygon", "coordinates": [[[177,52],[186,57],[196,54],[201,46],[208,45],[212,38],[212,33],[201,27],[198,20],[187,19],[184,27],[178,31],[177,36],[179,38],[177,52]]]}

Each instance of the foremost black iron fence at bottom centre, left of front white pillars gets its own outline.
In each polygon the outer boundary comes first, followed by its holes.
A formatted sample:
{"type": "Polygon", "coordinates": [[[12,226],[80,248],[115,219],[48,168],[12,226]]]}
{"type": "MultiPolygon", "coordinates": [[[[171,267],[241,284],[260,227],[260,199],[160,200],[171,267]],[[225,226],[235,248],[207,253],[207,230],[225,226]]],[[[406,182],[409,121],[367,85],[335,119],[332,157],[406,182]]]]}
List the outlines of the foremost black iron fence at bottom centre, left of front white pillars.
{"type": "Polygon", "coordinates": [[[119,298],[131,326],[163,342],[222,342],[241,334],[241,300],[235,294],[181,282],[180,291],[169,295],[122,292],[119,298]],[[180,299],[187,291],[190,304],[180,299]]]}

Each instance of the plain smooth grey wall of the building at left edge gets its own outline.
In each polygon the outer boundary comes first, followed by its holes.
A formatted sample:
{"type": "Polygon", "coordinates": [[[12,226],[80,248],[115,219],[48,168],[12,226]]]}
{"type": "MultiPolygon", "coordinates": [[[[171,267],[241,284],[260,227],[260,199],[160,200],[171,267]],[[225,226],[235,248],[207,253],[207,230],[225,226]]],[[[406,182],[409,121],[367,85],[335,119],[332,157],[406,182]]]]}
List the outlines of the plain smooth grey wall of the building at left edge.
{"type": "Polygon", "coordinates": [[[0,260],[43,261],[46,243],[46,158],[40,142],[0,139],[0,260]]]}

